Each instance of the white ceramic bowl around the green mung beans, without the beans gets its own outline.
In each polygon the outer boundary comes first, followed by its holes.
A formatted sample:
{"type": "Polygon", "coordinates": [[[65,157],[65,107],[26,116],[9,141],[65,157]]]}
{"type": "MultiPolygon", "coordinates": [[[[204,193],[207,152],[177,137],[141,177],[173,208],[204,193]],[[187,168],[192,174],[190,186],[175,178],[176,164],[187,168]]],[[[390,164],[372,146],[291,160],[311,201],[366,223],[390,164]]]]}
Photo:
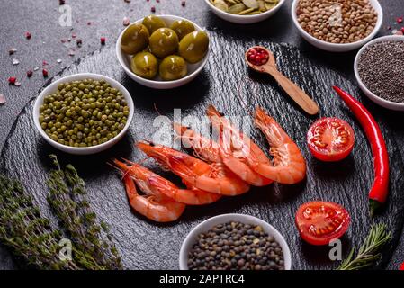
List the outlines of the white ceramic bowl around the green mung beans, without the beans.
{"type": "Polygon", "coordinates": [[[82,73],[82,74],[76,74],[72,76],[66,76],[61,79],[58,79],[58,81],[53,82],[50,84],[48,87],[46,87],[38,96],[37,100],[35,101],[35,104],[33,106],[33,121],[35,123],[36,129],[40,132],[40,135],[45,139],[51,146],[54,148],[58,148],[60,151],[69,153],[69,154],[76,154],[76,155],[90,155],[90,154],[95,154],[98,152],[101,152],[107,148],[111,148],[113,145],[115,145],[122,137],[125,135],[126,131],[128,130],[130,126],[130,122],[132,121],[133,118],[133,112],[134,112],[134,105],[133,105],[133,100],[130,96],[130,93],[126,88],[121,85],[118,81],[113,80],[110,77],[103,76],[103,75],[98,75],[98,74],[91,74],[91,73],[82,73]],[[83,147],[83,148],[76,148],[76,147],[70,147],[67,145],[62,145],[52,139],[49,138],[49,136],[45,133],[44,130],[42,130],[42,127],[40,127],[40,105],[43,103],[43,99],[48,96],[49,94],[52,94],[58,90],[58,85],[60,83],[67,83],[67,82],[72,82],[76,80],[84,80],[84,79],[94,79],[94,80],[105,80],[108,82],[112,87],[118,89],[121,91],[123,96],[125,97],[126,102],[128,103],[129,106],[129,116],[128,116],[128,121],[126,122],[125,127],[121,132],[114,137],[113,139],[110,139],[109,141],[92,146],[92,147],[83,147]]]}

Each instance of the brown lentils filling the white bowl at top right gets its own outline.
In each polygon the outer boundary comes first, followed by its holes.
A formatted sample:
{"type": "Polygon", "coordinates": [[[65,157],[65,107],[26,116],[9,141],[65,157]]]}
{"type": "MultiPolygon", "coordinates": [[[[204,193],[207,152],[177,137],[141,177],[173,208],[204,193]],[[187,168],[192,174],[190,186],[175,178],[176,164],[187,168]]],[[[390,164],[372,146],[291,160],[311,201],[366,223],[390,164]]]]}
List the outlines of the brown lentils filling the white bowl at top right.
{"type": "Polygon", "coordinates": [[[300,0],[296,15],[311,36],[340,44],[364,39],[377,22],[369,0],[300,0]]]}

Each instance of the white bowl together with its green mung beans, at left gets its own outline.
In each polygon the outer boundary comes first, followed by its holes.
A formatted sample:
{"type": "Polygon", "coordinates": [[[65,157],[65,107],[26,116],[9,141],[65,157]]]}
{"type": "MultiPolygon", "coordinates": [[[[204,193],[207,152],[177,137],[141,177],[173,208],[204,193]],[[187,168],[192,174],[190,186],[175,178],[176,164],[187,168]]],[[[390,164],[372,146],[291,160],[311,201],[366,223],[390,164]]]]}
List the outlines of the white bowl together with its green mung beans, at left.
{"type": "Polygon", "coordinates": [[[89,155],[116,144],[128,130],[133,112],[133,100],[123,85],[107,76],[83,73],[46,87],[33,107],[33,121],[51,146],[89,155]]]}

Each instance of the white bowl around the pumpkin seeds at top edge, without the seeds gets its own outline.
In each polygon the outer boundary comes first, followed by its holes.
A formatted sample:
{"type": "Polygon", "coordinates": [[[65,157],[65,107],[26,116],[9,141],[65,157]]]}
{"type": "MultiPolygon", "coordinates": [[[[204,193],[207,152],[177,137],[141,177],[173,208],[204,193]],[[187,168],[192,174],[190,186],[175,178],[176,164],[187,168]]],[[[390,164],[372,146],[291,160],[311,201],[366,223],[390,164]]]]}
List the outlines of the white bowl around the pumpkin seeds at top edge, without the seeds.
{"type": "Polygon", "coordinates": [[[219,8],[216,8],[215,5],[211,4],[210,0],[205,0],[206,4],[211,8],[211,11],[218,15],[221,19],[229,21],[231,23],[238,23],[238,24],[250,24],[250,23],[257,23],[260,21],[264,21],[268,19],[272,15],[274,15],[283,5],[285,0],[280,0],[279,3],[274,6],[269,11],[266,11],[261,14],[256,15],[237,15],[237,14],[230,14],[224,11],[221,11],[219,8]]]}

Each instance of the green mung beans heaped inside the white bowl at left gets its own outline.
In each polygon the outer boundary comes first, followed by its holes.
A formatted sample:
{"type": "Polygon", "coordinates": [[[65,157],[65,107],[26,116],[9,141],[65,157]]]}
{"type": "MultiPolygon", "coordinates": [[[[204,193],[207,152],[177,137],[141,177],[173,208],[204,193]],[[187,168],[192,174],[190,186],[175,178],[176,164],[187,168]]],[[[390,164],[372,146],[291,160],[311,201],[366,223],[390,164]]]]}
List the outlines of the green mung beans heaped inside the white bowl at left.
{"type": "Polygon", "coordinates": [[[71,147],[90,147],[116,137],[129,107],[121,91],[105,81],[85,79],[58,85],[40,105],[40,126],[50,139],[71,147]]]}

